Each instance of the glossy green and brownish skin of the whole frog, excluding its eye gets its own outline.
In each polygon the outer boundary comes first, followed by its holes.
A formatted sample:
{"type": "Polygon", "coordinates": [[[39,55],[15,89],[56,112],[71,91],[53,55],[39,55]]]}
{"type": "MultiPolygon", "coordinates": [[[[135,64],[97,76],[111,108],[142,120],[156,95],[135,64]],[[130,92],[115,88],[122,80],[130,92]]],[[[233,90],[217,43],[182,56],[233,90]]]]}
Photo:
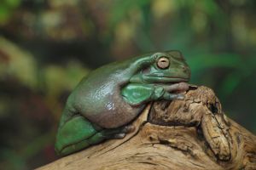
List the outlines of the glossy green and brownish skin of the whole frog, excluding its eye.
{"type": "Polygon", "coordinates": [[[178,51],[145,54],[92,71],[67,99],[56,135],[55,150],[65,156],[104,139],[122,139],[125,126],[150,101],[183,99],[189,65],[178,51]],[[158,59],[170,65],[160,69],[158,59]],[[177,83],[182,82],[182,83],[177,83]],[[175,92],[175,93],[170,93],[175,92]]]}

